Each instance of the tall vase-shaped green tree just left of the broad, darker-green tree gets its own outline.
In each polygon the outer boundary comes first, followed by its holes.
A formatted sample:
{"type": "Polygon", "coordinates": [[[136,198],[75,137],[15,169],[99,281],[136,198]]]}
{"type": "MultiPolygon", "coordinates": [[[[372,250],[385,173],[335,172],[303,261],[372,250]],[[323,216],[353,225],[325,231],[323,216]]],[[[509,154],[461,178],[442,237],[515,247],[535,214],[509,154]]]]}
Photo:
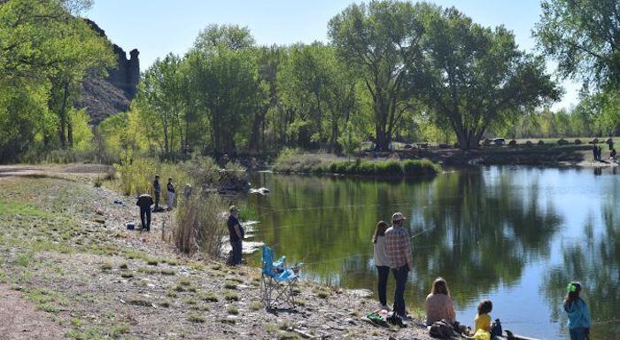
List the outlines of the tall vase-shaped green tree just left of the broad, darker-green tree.
{"type": "Polygon", "coordinates": [[[405,90],[405,65],[420,55],[421,4],[371,1],[352,4],[329,20],[329,38],[339,55],[360,72],[374,113],[376,148],[387,151],[413,95],[405,90]]]}

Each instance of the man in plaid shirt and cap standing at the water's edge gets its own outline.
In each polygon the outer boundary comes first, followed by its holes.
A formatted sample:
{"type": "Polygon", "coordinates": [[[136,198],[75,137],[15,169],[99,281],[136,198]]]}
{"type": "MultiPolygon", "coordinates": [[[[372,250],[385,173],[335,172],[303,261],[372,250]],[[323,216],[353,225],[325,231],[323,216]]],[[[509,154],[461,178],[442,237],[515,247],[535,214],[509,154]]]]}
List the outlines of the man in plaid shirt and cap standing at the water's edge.
{"type": "Polygon", "coordinates": [[[391,215],[391,228],[385,230],[385,252],[390,260],[391,271],[396,280],[394,290],[394,313],[408,320],[405,310],[405,284],[407,275],[413,267],[411,256],[411,237],[409,231],[403,227],[405,216],[402,213],[391,215]]]}

